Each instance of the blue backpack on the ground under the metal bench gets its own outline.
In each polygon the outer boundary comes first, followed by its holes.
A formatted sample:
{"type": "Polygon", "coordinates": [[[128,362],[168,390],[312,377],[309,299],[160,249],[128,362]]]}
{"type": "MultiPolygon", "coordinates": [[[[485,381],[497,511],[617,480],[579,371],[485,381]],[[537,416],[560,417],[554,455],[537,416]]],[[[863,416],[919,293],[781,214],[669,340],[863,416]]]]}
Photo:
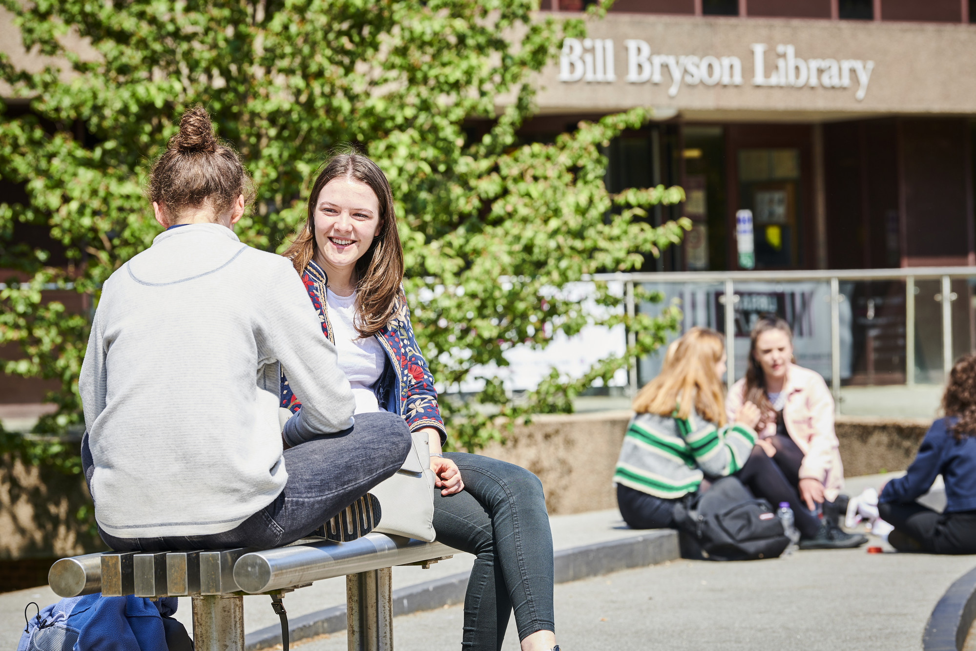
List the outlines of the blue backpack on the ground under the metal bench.
{"type": "Polygon", "coordinates": [[[193,651],[176,611],[176,597],[61,599],[27,620],[17,651],[193,651]]]}

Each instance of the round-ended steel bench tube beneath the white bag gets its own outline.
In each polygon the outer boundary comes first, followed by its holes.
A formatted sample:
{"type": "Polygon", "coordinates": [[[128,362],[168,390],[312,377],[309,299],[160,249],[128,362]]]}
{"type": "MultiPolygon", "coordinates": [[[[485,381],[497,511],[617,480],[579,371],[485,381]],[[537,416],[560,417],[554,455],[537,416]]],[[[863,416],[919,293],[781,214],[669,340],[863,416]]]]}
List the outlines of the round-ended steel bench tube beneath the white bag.
{"type": "Polygon", "coordinates": [[[240,590],[254,594],[452,553],[456,550],[441,543],[371,533],[349,543],[252,550],[236,562],[233,576],[240,590]]]}

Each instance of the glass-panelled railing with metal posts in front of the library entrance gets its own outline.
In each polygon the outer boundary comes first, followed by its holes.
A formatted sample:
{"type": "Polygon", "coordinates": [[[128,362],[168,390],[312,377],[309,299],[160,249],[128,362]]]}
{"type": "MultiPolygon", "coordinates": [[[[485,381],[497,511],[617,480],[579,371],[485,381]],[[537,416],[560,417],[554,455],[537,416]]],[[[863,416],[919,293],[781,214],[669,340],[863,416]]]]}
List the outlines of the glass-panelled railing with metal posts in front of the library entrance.
{"type": "MultiPolygon", "coordinates": [[[[661,292],[656,314],[675,302],[682,331],[708,326],[726,335],[728,386],[746,371],[749,333],[775,313],[793,327],[796,363],[820,373],[838,414],[931,418],[953,361],[976,350],[976,267],[826,271],[598,274],[661,292]],[[732,309],[726,309],[731,298],[732,309]],[[948,300],[944,300],[948,297],[948,300]],[[729,336],[734,333],[734,336],[729,336]]],[[[678,333],[676,336],[679,336],[678,333]]],[[[657,375],[661,351],[630,372],[639,387],[657,375]]]]}

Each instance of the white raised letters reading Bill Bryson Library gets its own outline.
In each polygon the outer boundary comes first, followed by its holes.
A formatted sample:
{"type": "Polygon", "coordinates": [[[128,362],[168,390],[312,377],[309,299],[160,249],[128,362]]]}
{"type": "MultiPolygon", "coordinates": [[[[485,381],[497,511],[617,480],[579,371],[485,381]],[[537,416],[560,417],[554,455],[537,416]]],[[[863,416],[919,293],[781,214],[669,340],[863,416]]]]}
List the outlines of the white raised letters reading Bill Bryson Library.
{"type": "MultiPolygon", "coordinates": [[[[682,84],[688,86],[742,86],[743,61],[736,56],[654,54],[647,41],[624,41],[627,62],[624,80],[629,84],[667,84],[668,97],[675,97],[682,84]],[[667,77],[667,79],[666,79],[667,77]]],[[[860,102],[868,93],[874,61],[860,59],[810,58],[796,54],[792,44],[778,44],[775,58],[766,43],[752,43],[752,86],[774,88],[857,89],[860,102]],[[768,61],[768,65],[767,65],[768,61]]],[[[613,83],[618,80],[616,52],[610,38],[567,38],[559,57],[559,81],[563,83],[613,83]]]]}

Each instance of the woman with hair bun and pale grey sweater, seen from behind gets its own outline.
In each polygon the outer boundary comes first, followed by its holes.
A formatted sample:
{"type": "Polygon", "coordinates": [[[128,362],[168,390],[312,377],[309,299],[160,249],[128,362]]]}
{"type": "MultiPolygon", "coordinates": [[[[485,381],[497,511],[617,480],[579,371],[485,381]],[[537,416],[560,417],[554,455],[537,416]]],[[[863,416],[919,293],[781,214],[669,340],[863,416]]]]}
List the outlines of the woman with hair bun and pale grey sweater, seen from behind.
{"type": "Polygon", "coordinates": [[[292,265],[231,229],[254,191],[202,106],[183,113],[147,194],[165,230],[105,281],[78,382],[102,540],[120,551],[294,542],[400,468],[410,432],[388,414],[353,424],[335,346],[292,265]],[[305,396],[284,429],[282,368],[305,396]]]}

